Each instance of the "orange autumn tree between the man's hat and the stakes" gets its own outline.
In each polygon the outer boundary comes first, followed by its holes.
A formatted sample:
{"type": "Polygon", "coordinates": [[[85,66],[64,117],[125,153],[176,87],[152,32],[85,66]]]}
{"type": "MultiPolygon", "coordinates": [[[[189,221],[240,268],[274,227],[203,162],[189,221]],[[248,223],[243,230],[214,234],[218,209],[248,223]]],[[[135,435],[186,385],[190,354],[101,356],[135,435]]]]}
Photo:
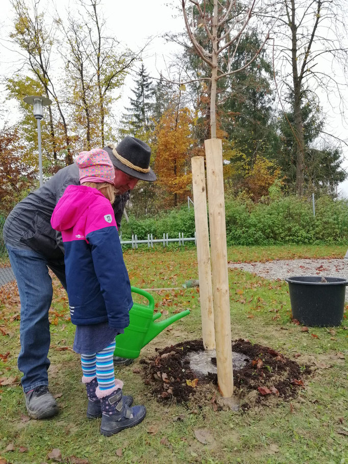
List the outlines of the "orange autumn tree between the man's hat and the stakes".
{"type": "Polygon", "coordinates": [[[155,130],[155,169],[160,187],[171,197],[168,206],[177,206],[190,194],[192,175],[188,166],[193,124],[188,108],[171,108],[163,113],[155,130]]]}

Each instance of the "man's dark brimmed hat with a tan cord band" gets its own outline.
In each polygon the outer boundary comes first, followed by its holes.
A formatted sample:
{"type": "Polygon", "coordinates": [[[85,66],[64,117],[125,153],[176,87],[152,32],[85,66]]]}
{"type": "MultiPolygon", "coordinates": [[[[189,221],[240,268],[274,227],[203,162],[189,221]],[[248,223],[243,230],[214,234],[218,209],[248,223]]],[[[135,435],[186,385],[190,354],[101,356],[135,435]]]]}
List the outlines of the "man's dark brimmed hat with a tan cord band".
{"type": "Polygon", "coordinates": [[[123,173],[145,181],[155,181],[156,174],[150,167],[151,148],[138,138],[127,135],[117,146],[109,144],[108,152],[112,164],[123,173]]]}

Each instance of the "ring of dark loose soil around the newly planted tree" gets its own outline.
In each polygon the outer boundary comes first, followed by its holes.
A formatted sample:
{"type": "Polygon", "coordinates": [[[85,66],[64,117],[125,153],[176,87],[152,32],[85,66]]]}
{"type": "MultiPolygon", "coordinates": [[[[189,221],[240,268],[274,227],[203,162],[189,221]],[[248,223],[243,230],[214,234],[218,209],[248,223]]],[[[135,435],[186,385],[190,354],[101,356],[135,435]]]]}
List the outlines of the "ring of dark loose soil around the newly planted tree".
{"type": "MultiPolygon", "coordinates": [[[[151,393],[158,401],[200,404],[215,401],[217,375],[197,374],[188,360],[190,352],[203,349],[202,340],[191,340],[156,349],[155,358],[140,360],[144,364],[145,383],[151,385],[151,393]]],[[[232,350],[250,359],[242,369],[233,372],[235,394],[243,409],[271,397],[283,400],[296,397],[304,388],[303,379],[311,373],[308,365],[300,366],[278,351],[248,340],[233,341],[232,350]]],[[[212,362],[216,363],[216,359],[212,358],[212,362]]]]}

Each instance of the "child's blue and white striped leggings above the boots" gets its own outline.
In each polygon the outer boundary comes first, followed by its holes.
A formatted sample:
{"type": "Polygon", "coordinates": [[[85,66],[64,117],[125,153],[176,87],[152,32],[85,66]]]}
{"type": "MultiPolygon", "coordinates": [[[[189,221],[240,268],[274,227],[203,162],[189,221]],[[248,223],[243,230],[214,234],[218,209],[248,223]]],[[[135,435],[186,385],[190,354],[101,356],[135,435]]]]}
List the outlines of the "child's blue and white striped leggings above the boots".
{"type": "Polygon", "coordinates": [[[102,351],[94,354],[82,354],[81,364],[83,375],[93,379],[96,376],[98,387],[101,390],[108,390],[115,387],[115,371],[113,355],[115,351],[115,341],[102,351]]]}

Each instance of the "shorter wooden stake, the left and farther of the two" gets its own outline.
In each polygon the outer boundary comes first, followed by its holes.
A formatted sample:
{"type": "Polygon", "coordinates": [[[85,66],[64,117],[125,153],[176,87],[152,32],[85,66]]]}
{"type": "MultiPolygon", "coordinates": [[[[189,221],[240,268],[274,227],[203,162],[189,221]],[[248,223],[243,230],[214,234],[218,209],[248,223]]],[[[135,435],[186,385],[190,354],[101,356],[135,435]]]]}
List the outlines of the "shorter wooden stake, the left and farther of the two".
{"type": "Polygon", "coordinates": [[[203,345],[206,350],[215,349],[213,289],[209,250],[208,214],[204,157],[191,158],[194,222],[197,237],[198,278],[202,315],[203,345]]]}

